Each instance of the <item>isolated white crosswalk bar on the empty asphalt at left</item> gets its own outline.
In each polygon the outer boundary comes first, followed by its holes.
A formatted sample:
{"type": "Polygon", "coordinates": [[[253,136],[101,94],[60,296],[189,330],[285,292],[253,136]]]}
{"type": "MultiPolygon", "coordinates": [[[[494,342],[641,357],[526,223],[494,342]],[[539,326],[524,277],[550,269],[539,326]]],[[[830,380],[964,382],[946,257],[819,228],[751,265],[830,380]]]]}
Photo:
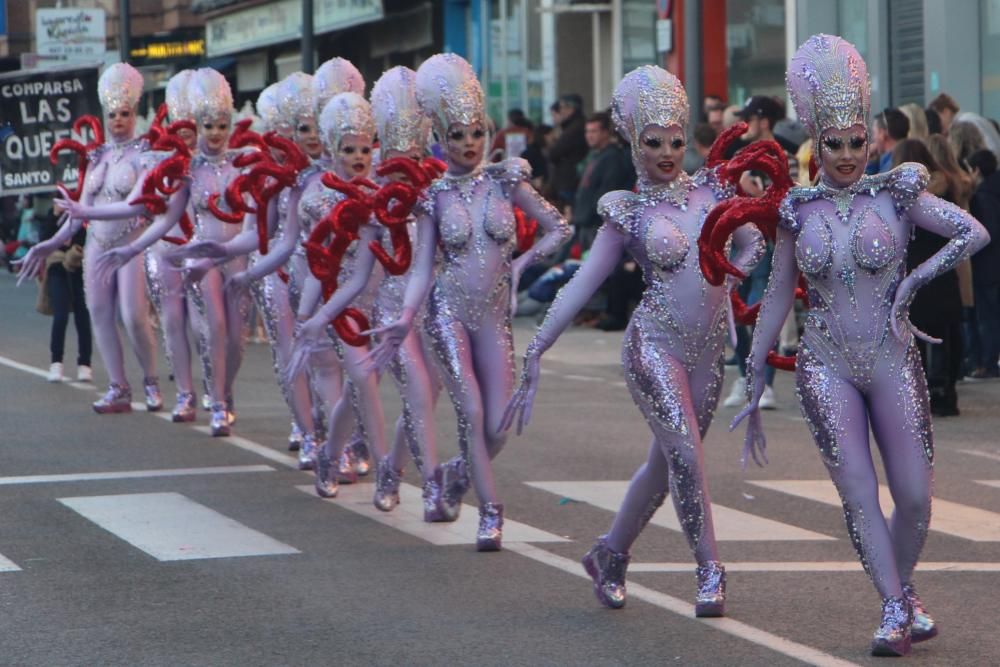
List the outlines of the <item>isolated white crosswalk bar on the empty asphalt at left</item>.
{"type": "Polygon", "coordinates": [[[300,553],[179,493],[81,496],[59,502],[159,561],[300,553]]]}

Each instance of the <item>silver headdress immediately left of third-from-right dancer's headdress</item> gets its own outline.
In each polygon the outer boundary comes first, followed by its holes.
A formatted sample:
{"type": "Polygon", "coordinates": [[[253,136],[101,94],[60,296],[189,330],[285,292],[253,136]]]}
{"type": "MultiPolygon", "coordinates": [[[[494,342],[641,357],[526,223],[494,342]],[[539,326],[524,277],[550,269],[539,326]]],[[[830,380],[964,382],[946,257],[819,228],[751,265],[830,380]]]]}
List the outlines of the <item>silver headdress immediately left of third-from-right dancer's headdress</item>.
{"type": "Polygon", "coordinates": [[[393,67],[372,88],[372,113],[383,154],[423,152],[427,145],[430,119],[417,104],[416,86],[416,72],[409,67],[393,67]]]}

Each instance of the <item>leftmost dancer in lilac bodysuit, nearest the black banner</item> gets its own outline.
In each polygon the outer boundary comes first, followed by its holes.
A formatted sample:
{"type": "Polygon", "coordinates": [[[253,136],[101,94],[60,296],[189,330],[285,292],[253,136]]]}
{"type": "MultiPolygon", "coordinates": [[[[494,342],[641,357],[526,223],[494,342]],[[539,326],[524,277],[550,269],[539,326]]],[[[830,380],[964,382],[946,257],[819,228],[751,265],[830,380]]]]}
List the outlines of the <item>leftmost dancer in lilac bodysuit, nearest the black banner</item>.
{"type": "MultiPolygon", "coordinates": [[[[97,84],[105,127],[110,140],[90,155],[80,197],[80,207],[104,206],[123,201],[143,171],[143,154],[149,150],[144,138],[135,138],[136,106],[142,97],[142,74],[131,65],[112,65],[97,84]]],[[[64,193],[65,194],[65,193],[64,193]]],[[[94,403],[98,413],[129,412],[132,390],[125,377],[125,360],[118,336],[117,314],[120,311],[125,333],[143,370],[146,408],[163,407],[156,375],[156,339],[149,319],[149,299],[141,257],[133,257],[120,266],[108,280],[96,279],[95,259],[104,251],[134,241],[148,223],[144,211],[124,219],[105,219],[95,215],[68,212],[69,221],[49,241],[36,245],[22,261],[21,280],[37,274],[45,257],[64,245],[85,220],[90,222],[84,248],[83,282],[87,308],[94,325],[97,349],[104,360],[110,386],[94,403]]]]}

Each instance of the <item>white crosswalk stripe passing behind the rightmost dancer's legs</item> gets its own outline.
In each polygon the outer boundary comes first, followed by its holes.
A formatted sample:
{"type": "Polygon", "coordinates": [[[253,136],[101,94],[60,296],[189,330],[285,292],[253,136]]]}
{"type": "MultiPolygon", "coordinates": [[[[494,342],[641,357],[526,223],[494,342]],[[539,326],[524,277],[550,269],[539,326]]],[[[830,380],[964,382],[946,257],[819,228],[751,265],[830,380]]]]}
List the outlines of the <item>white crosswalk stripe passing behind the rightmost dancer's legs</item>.
{"type": "MultiPolygon", "coordinates": [[[[751,481],[751,484],[780,491],[798,498],[815,500],[825,505],[841,507],[840,496],[828,479],[751,481]]],[[[889,516],[893,510],[889,488],[879,486],[879,503],[889,516]]],[[[931,530],[961,537],[973,542],[1000,542],[1000,514],[935,498],[932,505],[931,530]]]]}

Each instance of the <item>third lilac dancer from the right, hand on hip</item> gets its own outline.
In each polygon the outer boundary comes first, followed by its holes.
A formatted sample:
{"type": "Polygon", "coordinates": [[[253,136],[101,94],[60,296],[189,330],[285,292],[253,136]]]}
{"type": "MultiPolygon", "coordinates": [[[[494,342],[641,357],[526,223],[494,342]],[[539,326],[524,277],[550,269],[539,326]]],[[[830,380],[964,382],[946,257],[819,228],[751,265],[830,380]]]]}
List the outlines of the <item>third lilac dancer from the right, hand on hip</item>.
{"type": "Polygon", "coordinates": [[[373,356],[380,366],[394,357],[430,292],[424,330],[458,415],[462,451],[461,458],[444,464],[445,502],[459,504],[471,477],[480,503],[476,547],[495,551],[501,546],[503,505],[491,459],[506,441],[500,421],[514,384],[511,285],[525,267],[565,243],[570,230],[529,184],[527,162],[483,163],[483,91],[469,63],[450,53],[428,59],[417,71],[417,99],[447,150],[448,172],[418,207],[418,247],[402,315],[376,330],[383,339],[373,356]],[[536,219],[545,234],[512,261],[514,206],[536,219]]]}

